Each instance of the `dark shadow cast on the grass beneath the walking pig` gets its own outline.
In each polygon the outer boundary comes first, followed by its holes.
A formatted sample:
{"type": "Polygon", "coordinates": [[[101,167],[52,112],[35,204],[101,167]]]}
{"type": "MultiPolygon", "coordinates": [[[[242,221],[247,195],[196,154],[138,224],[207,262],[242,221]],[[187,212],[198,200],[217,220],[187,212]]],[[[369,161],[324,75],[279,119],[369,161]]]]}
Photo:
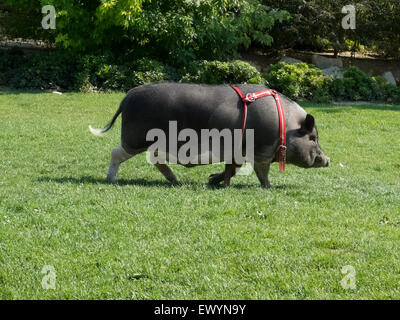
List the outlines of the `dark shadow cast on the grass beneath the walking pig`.
{"type": "MultiPolygon", "coordinates": [[[[94,178],[90,176],[83,177],[39,177],[37,179],[38,182],[56,182],[61,184],[72,183],[72,184],[106,184],[110,185],[107,179],[104,178],[94,178]]],[[[164,180],[146,180],[143,178],[136,179],[118,179],[115,186],[142,186],[142,187],[192,187],[192,188],[201,188],[206,186],[207,189],[224,189],[225,187],[222,184],[219,185],[209,185],[208,183],[204,183],[201,181],[178,181],[175,183],[164,181],[164,180]]],[[[197,189],[196,188],[196,189],[197,189]]],[[[249,188],[260,188],[258,184],[243,184],[243,183],[234,183],[231,184],[230,188],[235,189],[249,189],[249,188]]],[[[283,190],[291,188],[291,186],[272,186],[272,190],[283,190]]]]}

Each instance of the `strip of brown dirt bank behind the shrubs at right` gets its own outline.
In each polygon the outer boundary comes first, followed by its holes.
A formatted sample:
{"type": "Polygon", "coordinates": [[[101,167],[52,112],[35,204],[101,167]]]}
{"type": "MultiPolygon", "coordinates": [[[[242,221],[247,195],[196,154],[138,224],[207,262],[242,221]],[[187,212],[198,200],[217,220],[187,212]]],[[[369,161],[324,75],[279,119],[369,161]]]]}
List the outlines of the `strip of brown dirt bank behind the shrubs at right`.
{"type": "MultiPolygon", "coordinates": [[[[242,53],[242,59],[254,65],[259,71],[268,72],[269,65],[277,63],[284,56],[289,56],[307,63],[311,63],[311,57],[313,54],[320,54],[333,58],[333,53],[329,52],[304,52],[294,50],[263,52],[261,50],[252,49],[248,52],[242,53]]],[[[397,82],[400,81],[400,61],[385,60],[372,55],[358,53],[355,57],[351,57],[350,52],[343,52],[339,55],[339,57],[343,60],[343,65],[345,68],[357,66],[364,72],[373,76],[383,75],[383,73],[391,71],[397,82]]]]}

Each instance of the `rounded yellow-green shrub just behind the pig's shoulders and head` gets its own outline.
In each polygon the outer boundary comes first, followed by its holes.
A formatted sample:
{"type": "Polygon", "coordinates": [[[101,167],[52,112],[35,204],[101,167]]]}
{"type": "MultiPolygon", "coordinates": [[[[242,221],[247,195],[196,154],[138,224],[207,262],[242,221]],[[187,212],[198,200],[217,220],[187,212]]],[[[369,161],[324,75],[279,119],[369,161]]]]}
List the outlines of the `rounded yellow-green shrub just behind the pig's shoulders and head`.
{"type": "Polygon", "coordinates": [[[291,99],[317,102],[331,99],[329,86],[332,79],[324,77],[322,71],[313,65],[279,62],[271,65],[271,72],[265,77],[272,88],[291,99]]]}

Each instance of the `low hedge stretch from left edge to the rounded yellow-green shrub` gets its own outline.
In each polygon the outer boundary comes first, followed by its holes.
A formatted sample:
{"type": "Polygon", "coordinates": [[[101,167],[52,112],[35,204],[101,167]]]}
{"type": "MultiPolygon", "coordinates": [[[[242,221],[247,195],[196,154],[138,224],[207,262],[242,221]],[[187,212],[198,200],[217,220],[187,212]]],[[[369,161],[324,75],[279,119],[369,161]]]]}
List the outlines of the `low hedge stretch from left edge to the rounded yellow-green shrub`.
{"type": "Polygon", "coordinates": [[[123,90],[156,81],[264,83],[246,62],[194,61],[180,69],[141,58],[116,63],[110,55],[77,56],[63,51],[24,55],[0,52],[0,85],[17,89],[123,90]]]}

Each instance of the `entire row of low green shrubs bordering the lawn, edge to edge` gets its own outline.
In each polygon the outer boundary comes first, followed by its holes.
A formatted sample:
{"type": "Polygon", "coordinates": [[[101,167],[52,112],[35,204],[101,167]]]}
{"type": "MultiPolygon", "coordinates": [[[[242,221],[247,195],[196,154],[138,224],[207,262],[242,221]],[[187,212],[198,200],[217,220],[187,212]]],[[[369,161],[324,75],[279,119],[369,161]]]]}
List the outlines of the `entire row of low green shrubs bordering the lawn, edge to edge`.
{"type": "Polygon", "coordinates": [[[400,102],[399,87],[387,84],[383,77],[370,77],[354,66],[344,72],[343,79],[334,79],[306,63],[281,62],[271,65],[269,73],[260,74],[240,60],[202,60],[175,68],[149,58],[121,62],[110,55],[77,56],[65,51],[0,52],[0,85],[11,88],[128,91],[156,81],[266,84],[294,100],[315,102],[400,102]]]}

